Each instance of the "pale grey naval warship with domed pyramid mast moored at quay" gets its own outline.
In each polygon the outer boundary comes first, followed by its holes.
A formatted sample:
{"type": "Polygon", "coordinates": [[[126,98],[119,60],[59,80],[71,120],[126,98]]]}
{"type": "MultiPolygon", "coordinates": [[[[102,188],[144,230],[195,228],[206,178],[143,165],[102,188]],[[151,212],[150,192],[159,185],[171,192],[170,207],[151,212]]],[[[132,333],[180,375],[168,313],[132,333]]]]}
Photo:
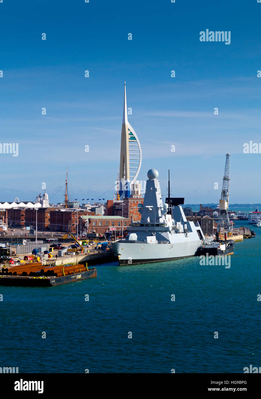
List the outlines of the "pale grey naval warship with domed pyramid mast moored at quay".
{"type": "Polygon", "coordinates": [[[199,223],[187,221],[179,204],[163,203],[158,171],[150,169],[140,222],[132,222],[127,236],[112,243],[119,265],[170,261],[195,256],[205,241],[199,223]]]}

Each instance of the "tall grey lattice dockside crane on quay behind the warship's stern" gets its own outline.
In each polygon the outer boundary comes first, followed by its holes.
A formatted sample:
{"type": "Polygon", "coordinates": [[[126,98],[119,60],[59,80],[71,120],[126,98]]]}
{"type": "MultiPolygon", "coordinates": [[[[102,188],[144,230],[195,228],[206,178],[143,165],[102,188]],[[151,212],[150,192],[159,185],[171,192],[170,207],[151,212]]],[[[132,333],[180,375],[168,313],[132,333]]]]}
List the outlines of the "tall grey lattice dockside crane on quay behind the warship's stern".
{"type": "Polygon", "coordinates": [[[230,154],[226,154],[226,157],[221,199],[219,199],[220,216],[217,223],[217,233],[220,233],[221,229],[227,230],[227,233],[231,233],[231,223],[227,213],[229,201],[230,154]]]}

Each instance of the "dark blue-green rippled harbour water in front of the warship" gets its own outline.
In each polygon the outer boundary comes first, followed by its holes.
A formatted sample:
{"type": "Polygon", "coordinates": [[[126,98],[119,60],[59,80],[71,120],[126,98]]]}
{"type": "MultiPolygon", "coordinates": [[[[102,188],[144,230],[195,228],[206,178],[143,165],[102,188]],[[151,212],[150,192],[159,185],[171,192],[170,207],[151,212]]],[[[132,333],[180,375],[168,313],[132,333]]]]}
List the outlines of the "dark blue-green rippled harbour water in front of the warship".
{"type": "Polygon", "coordinates": [[[235,244],[230,269],[200,266],[198,257],[111,263],[97,265],[96,279],[0,287],[0,367],[19,367],[20,373],[242,373],[250,364],[261,366],[261,227],[253,229],[254,239],[235,244]]]}

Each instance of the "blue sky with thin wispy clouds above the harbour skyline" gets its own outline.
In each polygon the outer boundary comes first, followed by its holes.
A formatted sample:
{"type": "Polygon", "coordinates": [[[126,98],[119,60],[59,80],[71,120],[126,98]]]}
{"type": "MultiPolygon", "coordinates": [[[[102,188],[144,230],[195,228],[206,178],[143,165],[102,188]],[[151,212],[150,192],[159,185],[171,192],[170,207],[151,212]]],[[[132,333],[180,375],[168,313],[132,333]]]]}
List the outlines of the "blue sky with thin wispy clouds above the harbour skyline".
{"type": "Polygon", "coordinates": [[[71,199],[111,199],[126,80],[140,180],[157,168],[164,192],[170,169],[173,196],[218,202],[230,152],[230,202],[260,202],[261,154],[243,144],[261,142],[261,4],[89,1],[0,3],[0,142],[19,144],[0,154],[0,201],[33,200],[42,182],[63,201],[67,165],[71,199]],[[206,29],[231,44],[200,42],[206,29]]]}

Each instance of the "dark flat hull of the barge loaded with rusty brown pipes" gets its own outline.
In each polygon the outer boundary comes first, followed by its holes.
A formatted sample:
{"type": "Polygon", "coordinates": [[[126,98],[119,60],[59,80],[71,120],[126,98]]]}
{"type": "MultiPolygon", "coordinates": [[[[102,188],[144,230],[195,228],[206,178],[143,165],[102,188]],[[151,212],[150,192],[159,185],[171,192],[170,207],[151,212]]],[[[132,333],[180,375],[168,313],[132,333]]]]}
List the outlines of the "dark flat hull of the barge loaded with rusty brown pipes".
{"type": "Polygon", "coordinates": [[[97,269],[73,273],[61,277],[22,277],[22,276],[0,276],[0,285],[4,286],[24,286],[24,287],[50,287],[54,285],[66,284],[67,282],[81,281],[97,277],[97,269]]]}

